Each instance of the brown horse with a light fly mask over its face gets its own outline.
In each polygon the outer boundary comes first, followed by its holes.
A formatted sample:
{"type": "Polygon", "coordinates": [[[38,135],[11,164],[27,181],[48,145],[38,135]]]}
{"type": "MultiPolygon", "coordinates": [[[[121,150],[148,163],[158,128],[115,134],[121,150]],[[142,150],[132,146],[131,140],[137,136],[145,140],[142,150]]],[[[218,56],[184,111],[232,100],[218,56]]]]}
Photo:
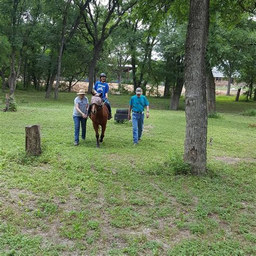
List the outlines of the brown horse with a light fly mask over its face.
{"type": "Polygon", "coordinates": [[[106,130],[107,117],[109,117],[109,111],[107,110],[106,104],[102,101],[101,94],[96,94],[92,96],[91,105],[92,109],[90,118],[92,119],[93,128],[96,134],[97,147],[99,147],[99,143],[103,142],[106,130]],[[99,125],[102,126],[102,134],[100,134],[100,138],[99,125]]]}

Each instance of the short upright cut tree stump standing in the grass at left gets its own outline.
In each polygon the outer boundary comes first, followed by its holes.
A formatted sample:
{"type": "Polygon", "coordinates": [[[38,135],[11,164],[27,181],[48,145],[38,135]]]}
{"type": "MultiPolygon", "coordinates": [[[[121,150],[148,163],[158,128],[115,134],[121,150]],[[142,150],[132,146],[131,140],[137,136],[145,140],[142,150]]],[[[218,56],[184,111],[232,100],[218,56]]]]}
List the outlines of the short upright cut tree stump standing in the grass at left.
{"type": "Polygon", "coordinates": [[[40,125],[28,125],[26,129],[26,153],[33,156],[41,155],[40,125]]]}

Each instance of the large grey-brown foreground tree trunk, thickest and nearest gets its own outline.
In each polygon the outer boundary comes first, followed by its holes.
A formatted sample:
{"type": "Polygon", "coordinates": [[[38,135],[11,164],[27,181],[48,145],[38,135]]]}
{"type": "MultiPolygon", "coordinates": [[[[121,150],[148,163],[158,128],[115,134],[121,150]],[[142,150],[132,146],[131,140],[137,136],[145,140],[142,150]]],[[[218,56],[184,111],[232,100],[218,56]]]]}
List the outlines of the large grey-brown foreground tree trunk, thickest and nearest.
{"type": "Polygon", "coordinates": [[[186,138],[184,160],[194,174],[206,172],[207,106],[205,52],[210,0],[191,0],[185,45],[186,138]]]}

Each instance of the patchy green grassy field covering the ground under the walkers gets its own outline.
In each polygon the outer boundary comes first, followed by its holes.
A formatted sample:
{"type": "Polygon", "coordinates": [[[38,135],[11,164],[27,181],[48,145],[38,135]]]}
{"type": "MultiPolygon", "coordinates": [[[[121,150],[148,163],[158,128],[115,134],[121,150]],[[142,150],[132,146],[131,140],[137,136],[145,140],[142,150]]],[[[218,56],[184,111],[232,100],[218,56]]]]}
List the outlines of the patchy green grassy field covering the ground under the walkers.
{"type": "MultiPolygon", "coordinates": [[[[256,103],[217,98],[208,173],[195,177],[178,173],[185,112],[169,100],[149,98],[137,147],[131,123],[112,119],[96,149],[91,120],[73,146],[75,96],[18,91],[18,111],[0,112],[0,255],[256,254],[256,117],[240,114],[256,103]],[[24,152],[31,124],[41,125],[40,157],[24,152]]],[[[113,112],[129,98],[111,95],[113,112]]]]}

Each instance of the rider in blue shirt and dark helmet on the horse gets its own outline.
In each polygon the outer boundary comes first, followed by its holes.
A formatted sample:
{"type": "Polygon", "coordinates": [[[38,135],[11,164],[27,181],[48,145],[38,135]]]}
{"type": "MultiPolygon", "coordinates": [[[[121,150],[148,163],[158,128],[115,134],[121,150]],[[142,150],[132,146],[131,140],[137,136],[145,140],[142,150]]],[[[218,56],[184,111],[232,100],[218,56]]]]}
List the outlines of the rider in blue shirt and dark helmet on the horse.
{"type": "MultiPolygon", "coordinates": [[[[106,83],[106,75],[105,73],[101,73],[99,75],[99,81],[96,82],[94,88],[93,88],[97,93],[102,93],[102,100],[104,102],[104,104],[106,104],[107,109],[109,110],[109,118],[107,118],[108,120],[110,120],[112,118],[112,114],[111,114],[111,105],[109,102],[109,84],[106,83]]],[[[91,104],[89,105],[89,108],[87,110],[87,117],[89,117],[91,114],[91,104]]]]}

